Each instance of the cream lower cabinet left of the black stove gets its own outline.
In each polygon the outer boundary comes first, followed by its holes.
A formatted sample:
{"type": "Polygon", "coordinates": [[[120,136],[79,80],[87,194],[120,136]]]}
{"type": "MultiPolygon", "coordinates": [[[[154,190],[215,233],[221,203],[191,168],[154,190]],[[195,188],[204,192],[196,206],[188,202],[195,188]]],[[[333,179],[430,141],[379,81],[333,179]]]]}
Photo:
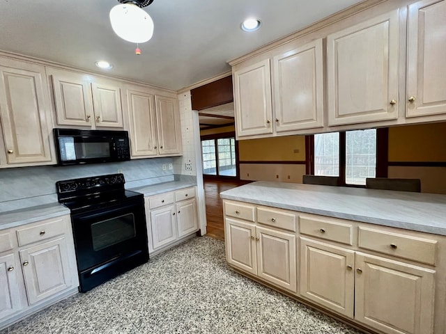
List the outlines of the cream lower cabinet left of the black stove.
{"type": "Polygon", "coordinates": [[[0,241],[0,321],[4,324],[77,292],[69,215],[0,230],[0,241]]]}

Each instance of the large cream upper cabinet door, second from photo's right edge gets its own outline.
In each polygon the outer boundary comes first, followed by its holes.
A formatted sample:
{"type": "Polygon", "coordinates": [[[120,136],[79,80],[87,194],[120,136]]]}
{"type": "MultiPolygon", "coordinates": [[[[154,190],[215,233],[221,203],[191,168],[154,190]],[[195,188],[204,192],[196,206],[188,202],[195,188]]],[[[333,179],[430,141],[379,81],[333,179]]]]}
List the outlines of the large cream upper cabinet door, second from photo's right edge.
{"type": "Polygon", "coordinates": [[[399,10],[328,35],[327,66],[328,125],[396,119],[399,10]]]}

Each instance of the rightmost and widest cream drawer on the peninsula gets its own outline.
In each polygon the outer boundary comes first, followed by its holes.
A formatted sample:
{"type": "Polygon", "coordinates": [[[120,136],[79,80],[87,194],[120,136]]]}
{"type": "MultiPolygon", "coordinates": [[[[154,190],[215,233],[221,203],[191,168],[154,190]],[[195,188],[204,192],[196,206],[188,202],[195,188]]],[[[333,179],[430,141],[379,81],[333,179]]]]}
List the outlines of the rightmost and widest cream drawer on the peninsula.
{"type": "Polygon", "coordinates": [[[379,253],[435,264],[437,241],[410,235],[359,228],[358,246],[379,253]]]}

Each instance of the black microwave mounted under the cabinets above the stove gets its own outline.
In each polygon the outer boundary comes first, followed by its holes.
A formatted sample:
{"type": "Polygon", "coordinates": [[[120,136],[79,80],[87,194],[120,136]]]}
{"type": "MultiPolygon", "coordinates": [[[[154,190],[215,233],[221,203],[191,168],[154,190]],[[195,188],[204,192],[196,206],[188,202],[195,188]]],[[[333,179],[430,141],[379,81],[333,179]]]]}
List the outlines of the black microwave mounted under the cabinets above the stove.
{"type": "Polygon", "coordinates": [[[127,131],[54,129],[57,164],[130,160],[127,131]]]}

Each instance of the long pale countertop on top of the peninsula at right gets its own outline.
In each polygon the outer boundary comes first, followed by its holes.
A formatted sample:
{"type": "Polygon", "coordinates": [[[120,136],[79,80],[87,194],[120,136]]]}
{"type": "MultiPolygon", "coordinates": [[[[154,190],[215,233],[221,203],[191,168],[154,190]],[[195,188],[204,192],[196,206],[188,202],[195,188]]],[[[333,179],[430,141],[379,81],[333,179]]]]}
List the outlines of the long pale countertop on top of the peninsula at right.
{"type": "Polygon", "coordinates": [[[446,235],[446,195],[260,181],[223,191],[220,196],[309,214],[446,235]]]}

